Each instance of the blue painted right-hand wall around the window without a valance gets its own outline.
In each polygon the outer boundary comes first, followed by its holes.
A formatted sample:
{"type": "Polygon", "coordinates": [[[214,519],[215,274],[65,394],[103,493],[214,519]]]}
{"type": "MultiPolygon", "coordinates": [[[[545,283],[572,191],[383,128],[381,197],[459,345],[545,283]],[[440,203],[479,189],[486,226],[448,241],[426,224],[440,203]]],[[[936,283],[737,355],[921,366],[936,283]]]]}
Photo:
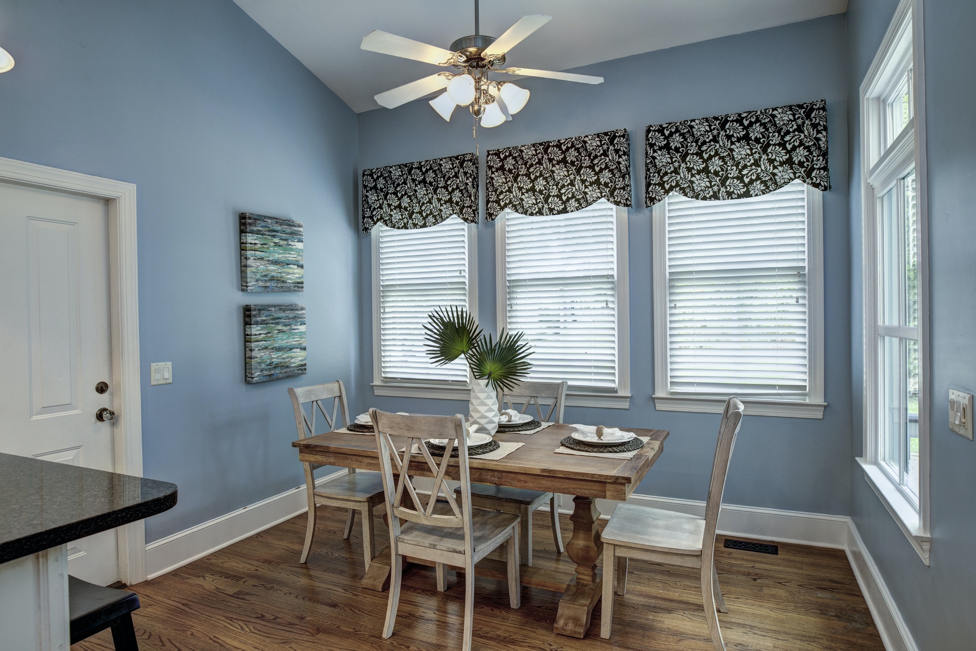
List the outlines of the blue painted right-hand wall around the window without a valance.
{"type": "MultiPolygon", "coordinates": [[[[848,93],[851,142],[857,143],[858,88],[874,59],[896,0],[851,0],[848,8],[848,93]]],[[[976,640],[976,445],[949,429],[949,389],[976,390],[976,4],[924,3],[926,128],[929,189],[931,325],[931,566],[926,567],[885,507],[851,465],[852,515],[892,596],[923,651],[963,651],[976,640]]],[[[860,270],[860,157],[851,149],[851,258],[860,270]]],[[[854,409],[852,445],[862,448],[864,369],[861,275],[851,278],[854,409]]]]}

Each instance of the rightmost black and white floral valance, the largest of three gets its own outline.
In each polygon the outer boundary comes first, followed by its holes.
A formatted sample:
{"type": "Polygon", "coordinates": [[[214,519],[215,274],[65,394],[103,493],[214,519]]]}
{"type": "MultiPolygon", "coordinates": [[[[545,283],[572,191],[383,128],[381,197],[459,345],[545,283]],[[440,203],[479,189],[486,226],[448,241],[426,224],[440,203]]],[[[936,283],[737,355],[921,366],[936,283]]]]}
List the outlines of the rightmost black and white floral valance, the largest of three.
{"type": "Polygon", "coordinates": [[[800,180],[830,190],[827,102],[749,110],[647,127],[645,201],[677,193],[758,196],[800,180]]]}

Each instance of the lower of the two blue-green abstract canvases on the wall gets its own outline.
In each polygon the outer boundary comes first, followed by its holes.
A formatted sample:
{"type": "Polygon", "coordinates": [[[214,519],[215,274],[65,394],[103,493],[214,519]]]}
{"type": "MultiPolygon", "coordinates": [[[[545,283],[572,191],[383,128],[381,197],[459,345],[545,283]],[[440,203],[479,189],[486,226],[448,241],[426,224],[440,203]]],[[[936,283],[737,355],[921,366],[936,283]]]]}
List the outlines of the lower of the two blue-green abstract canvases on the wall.
{"type": "Polygon", "coordinates": [[[244,306],[244,379],[305,375],[305,306],[244,306]]]}

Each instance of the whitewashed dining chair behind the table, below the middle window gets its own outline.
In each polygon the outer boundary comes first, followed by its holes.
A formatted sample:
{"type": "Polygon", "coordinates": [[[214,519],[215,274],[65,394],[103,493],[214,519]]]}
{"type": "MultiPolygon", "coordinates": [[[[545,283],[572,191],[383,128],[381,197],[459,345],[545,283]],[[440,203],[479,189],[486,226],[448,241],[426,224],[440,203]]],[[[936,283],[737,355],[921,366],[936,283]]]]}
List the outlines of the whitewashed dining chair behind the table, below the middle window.
{"type": "MultiPolygon", "coordinates": [[[[565,381],[520,382],[510,391],[499,392],[499,412],[512,409],[519,413],[525,413],[530,405],[535,405],[536,413],[541,422],[562,422],[563,408],[566,402],[566,385],[567,382],[565,381]],[[540,398],[551,399],[551,405],[546,406],[549,408],[548,411],[544,410],[540,398]],[[521,404],[520,408],[518,407],[519,404],[521,404]],[[506,407],[507,405],[508,407],[506,407]]],[[[555,494],[508,488],[507,486],[471,484],[471,499],[477,508],[512,513],[522,519],[519,544],[526,565],[532,565],[532,513],[549,502],[549,519],[552,523],[552,540],[555,542],[555,550],[560,554],[565,551],[562,544],[562,533],[559,531],[559,509],[556,506],[555,494]]]]}

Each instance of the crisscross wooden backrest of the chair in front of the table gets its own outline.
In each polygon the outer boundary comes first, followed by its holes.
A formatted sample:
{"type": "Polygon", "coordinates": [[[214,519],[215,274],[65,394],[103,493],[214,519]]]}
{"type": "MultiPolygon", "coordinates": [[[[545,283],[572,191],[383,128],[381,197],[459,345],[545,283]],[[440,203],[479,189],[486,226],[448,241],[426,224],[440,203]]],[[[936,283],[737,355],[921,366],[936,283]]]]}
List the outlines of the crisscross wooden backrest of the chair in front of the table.
{"type": "MultiPolygon", "coordinates": [[[[369,411],[376,431],[377,450],[380,454],[380,472],[383,475],[383,492],[386,512],[390,514],[390,535],[400,535],[399,518],[436,527],[464,528],[466,548],[471,548],[471,483],[468,476],[468,439],[465,417],[401,415],[398,413],[369,411]],[[394,443],[392,437],[403,437],[394,443]],[[437,460],[427,450],[424,441],[446,439],[444,456],[437,460]],[[417,451],[411,452],[416,445],[417,451]],[[399,448],[398,446],[403,446],[399,448]],[[447,484],[447,469],[451,453],[458,449],[459,479],[461,480],[461,504],[447,484]],[[418,458],[420,456],[420,458],[418,458]],[[411,458],[413,457],[413,458],[411,458]],[[413,462],[413,468],[411,468],[413,462]],[[420,468],[418,468],[418,464],[420,468]],[[426,464],[426,468],[424,467],[426,464]],[[429,496],[417,492],[411,472],[429,470],[434,475],[429,496]],[[427,499],[424,499],[424,498],[427,499]],[[409,504],[405,503],[409,499],[409,504]],[[449,513],[435,512],[435,506],[447,503],[449,513]]],[[[445,509],[437,509],[443,511],[445,509]]]]}

